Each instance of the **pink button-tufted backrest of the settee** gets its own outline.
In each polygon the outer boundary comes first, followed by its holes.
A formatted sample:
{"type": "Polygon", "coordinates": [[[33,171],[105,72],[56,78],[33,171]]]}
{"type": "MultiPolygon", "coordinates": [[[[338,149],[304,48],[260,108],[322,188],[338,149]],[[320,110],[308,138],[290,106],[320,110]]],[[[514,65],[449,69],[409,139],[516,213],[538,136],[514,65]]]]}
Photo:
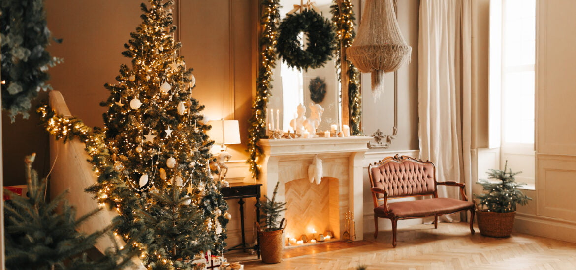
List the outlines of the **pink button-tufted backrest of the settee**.
{"type": "MultiPolygon", "coordinates": [[[[374,187],[382,188],[389,197],[434,192],[434,165],[431,163],[391,161],[372,168],[371,173],[374,187]]],[[[384,195],[377,196],[383,198],[384,195]]]]}

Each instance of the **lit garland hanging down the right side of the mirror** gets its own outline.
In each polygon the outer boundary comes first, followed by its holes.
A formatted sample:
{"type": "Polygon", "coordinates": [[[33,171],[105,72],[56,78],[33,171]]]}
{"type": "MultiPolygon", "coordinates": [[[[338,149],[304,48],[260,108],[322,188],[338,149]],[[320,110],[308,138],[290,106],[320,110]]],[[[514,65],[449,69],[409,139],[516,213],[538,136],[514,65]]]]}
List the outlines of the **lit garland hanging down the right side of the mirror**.
{"type": "MultiPolygon", "coordinates": [[[[336,25],[336,40],[340,43],[340,49],[346,51],[350,47],[356,37],[354,30],[354,10],[351,0],[343,0],[342,6],[339,6],[336,1],[331,6],[332,22],[336,25]]],[[[342,71],[340,67],[340,59],[342,57],[341,51],[336,51],[336,68],[342,71]]],[[[348,124],[353,135],[362,135],[361,121],[362,121],[362,92],[360,91],[360,72],[358,68],[350,60],[346,60],[346,74],[348,78],[348,113],[350,119],[348,124]]],[[[340,72],[338,74],[340,74],[340,72]]],[[[342,79],[342,78],[339,78],[342,79]]]]}

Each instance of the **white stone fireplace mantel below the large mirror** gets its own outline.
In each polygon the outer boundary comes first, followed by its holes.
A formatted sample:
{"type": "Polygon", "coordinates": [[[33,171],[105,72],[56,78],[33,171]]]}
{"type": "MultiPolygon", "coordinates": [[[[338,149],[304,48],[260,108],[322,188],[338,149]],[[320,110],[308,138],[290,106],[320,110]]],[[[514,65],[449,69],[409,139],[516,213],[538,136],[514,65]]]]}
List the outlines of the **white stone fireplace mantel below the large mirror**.
{"type": "MultiPolygon", "coordinates": [[[[338,179],[339,229],[344,231],[344,213],[354,212],[357,240],[363,236],[362,161],[372,137],[351,136],[346,138],[309,138],[260,140],[264,159],[260,161],[260,183],[263,194],[271,196],[277,182],[276,199],[285,202],[284,186],[295,179],[308,178],[308,165],[318,155],[323,160],[323,177],[338,179]]],[[[324,178],[323,178],[324,181],[324,178]]],[[[312,184],[312,183],[311,183],[312,184]]],[[[288,221],[291,222],[300,221],[288,221]]],[[[300,232],[295,232],[300,233],[300,232]]],[[[293,233],[291,233],[293,234],[293,233]]]]}

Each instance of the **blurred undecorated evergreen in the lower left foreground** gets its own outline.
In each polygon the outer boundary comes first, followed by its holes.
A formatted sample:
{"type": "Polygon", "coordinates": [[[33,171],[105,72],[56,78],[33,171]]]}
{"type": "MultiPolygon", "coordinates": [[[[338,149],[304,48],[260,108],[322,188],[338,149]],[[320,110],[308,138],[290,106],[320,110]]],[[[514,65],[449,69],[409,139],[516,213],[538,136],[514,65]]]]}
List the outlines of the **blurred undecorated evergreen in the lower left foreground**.
{"type": "MultiPolygon", "coordinates": [[[[46,180],[39,180],[32,163],[35,155],[26,156],[25,172],[28,198],[6,192],[5,240],[7,269],[122,269],[130,264],[132,250],[109,249],[97,260],[87,258],[100,237],[112,235],[112,226],[91,234],[78,232],[100,209],[82,217],[60,194],[47,202],[46,180]]],[[[57,180],[57,179],[54,179],[57,180]]]]}

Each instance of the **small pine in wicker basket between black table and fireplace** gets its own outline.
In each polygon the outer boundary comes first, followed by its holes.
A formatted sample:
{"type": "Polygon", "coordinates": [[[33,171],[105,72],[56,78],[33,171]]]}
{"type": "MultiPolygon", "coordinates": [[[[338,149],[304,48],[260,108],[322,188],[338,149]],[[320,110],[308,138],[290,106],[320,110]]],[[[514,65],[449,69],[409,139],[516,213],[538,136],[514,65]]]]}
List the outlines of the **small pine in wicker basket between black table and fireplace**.
{"type": "Polygon", "coordinates": [[[279,182],[276,183],[276,187],[274,187],[272,199],[264,195],[260,223],[256,222],[262,262],[267,264],[280,263],[284,252],[282,233],[286,227],[286,222],[285,219],[282,219],[278,224],[278,218],[280,217],[280,213],[286,210],[286,208],[284,208],[286,203],[276,202],[278,184],[279,182]]]}

